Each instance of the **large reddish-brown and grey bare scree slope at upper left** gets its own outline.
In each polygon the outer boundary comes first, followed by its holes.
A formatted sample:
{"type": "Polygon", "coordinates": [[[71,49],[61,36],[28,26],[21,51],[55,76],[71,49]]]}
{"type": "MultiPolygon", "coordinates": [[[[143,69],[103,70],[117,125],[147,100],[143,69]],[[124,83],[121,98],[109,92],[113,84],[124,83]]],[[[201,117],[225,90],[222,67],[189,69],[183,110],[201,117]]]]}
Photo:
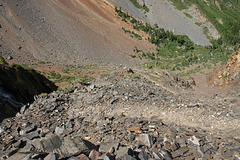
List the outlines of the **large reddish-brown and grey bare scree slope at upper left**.
{"type": "Polygon", "coordinates": [[[133,66],[138,62],[128,54],[134,46],[154,47],[125,34],[121,28],[129,26],[105,0],[7,0],[2,4],[2,55],[22,63],[133,66]]]}

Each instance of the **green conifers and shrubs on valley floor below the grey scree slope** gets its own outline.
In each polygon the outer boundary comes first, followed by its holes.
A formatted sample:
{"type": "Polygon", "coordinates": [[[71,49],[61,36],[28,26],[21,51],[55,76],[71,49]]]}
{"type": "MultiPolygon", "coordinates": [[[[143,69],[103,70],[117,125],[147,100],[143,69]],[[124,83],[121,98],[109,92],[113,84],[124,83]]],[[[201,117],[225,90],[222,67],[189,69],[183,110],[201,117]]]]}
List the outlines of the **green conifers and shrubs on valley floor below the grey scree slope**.
{"type": "MultiPolygon", "coordinates": [[[[174,35],[171,31],[159,28],[157,24],[151,26],[131,16],[129,21],[133,29],[147,33],[147,40],[157,47],[156,51],[153,52],[144,52],[135,47],[133,50],[135,53],[130,54],[136,55],[136,57],[138,55],[140,59],[147,59],[148,62],[145,63],[147,68],[168,69],[170,71],[182,71],[193,65],[203,65],[203,68],[206,68],[205,64],[216,65],[219,62],[226,62],[234,51],[230,49],[232,47],[219,45],[216,41],[212,46],[196,45],[185,35],[174,35]]],[[[123,30],[125,33],[132,33],[125,28],[123,30]]],[[[199,71],[199,69],[195,71],[199,71]]]]}

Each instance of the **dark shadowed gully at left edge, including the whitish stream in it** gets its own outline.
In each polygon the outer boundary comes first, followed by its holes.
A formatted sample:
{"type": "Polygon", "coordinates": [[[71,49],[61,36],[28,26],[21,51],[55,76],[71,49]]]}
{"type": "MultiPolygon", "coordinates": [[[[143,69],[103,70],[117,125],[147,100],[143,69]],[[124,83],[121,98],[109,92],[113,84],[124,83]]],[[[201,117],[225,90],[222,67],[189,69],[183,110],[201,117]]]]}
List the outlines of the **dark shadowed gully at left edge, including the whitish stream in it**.
{"type": "Polygon", "coordinates": [[[35,95],[56,89],[52,82],[34,70],[0,64],[0,121],[15,116],[23,104],[33,102],[35,95]]]}

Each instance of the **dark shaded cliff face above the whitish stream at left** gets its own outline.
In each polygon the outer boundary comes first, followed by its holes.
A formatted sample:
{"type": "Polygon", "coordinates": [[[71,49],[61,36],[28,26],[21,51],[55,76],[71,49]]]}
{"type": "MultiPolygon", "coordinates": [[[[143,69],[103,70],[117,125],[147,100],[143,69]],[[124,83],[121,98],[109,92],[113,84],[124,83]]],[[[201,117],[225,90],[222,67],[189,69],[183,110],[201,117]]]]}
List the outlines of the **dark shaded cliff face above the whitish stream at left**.
{"type": "Polygon", "coordinates": [[[9,67],[0,64],[0,87],[12,94],[23,104],[32,102],[40,93],[50,93],[57,87],[44,76],[34,70],[26,70],[20,66],[9,67]]]}

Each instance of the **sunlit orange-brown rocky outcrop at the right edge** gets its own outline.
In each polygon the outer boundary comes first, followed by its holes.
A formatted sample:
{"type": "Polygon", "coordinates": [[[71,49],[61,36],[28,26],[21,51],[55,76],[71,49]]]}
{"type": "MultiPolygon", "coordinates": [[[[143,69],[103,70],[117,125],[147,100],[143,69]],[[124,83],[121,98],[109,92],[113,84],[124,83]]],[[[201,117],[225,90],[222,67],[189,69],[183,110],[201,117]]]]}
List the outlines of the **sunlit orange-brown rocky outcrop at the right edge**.
{"type": "Polygon", "coordinates": [[[240,48],[231,55],[225,65],[217,68],[210,74],[209,84],[223,86],[233,84],[240,78],[240,48]]]}

